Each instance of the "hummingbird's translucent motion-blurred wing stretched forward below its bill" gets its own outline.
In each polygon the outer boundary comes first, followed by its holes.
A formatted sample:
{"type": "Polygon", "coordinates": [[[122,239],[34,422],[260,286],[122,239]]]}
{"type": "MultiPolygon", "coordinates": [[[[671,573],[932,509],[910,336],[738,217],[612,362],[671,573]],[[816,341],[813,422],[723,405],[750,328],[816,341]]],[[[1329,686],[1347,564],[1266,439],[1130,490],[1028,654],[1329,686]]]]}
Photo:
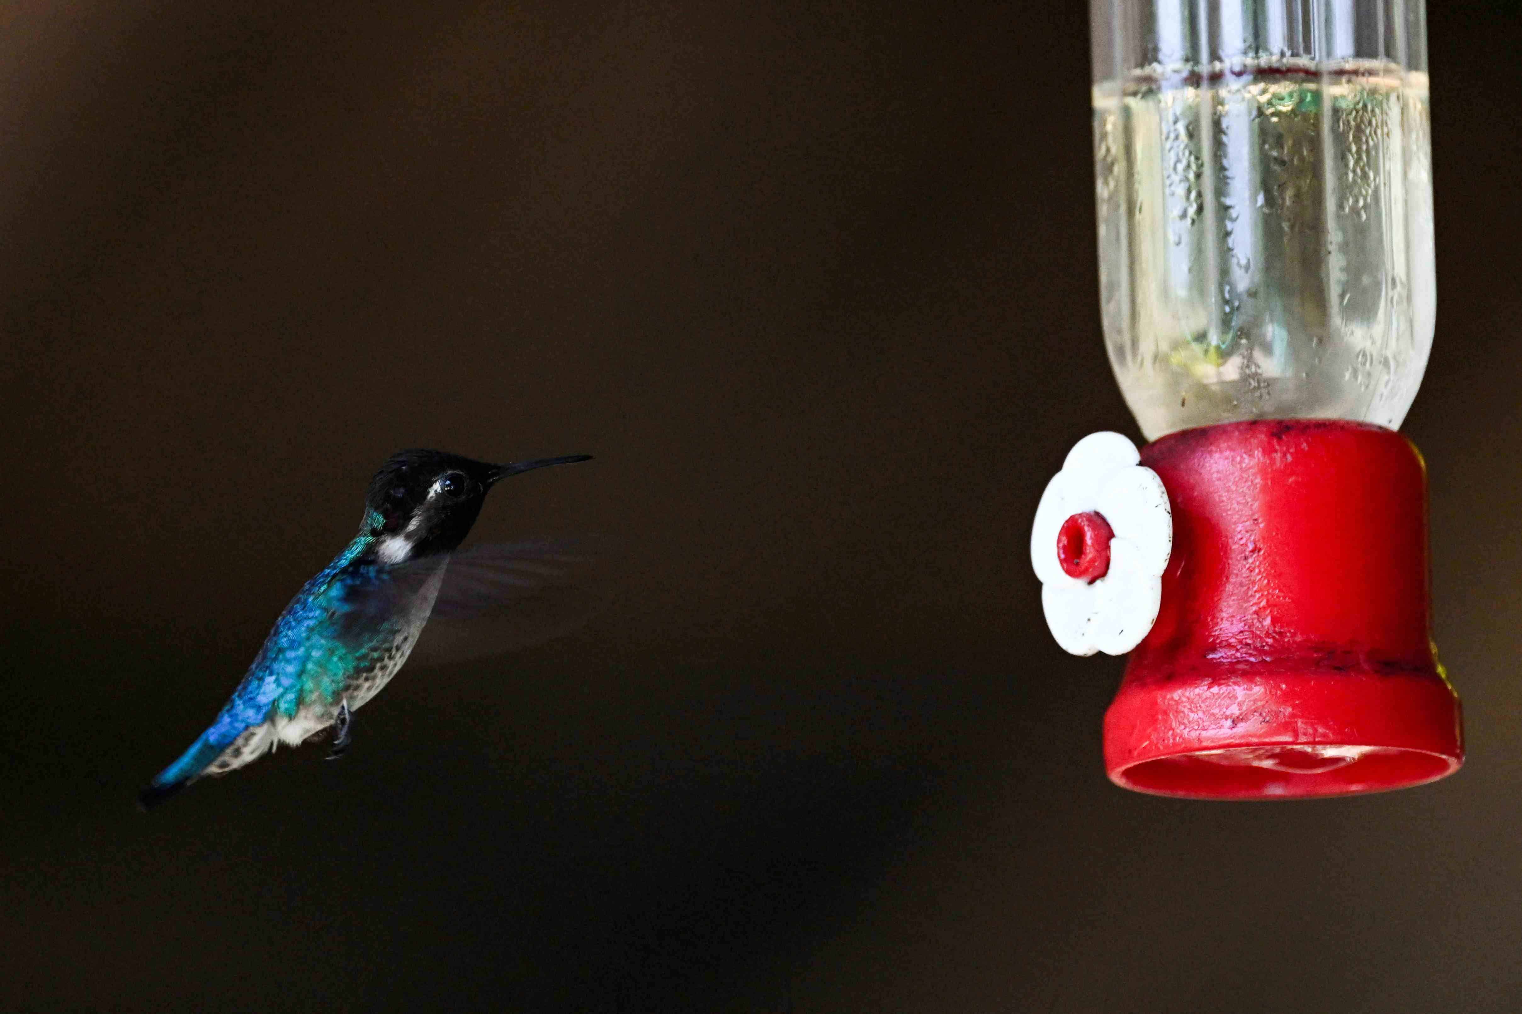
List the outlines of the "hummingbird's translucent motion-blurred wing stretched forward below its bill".
{"type": "MultiPolygon", "coordinates": [[[[587,540],[490,543],[449,558],[414,664],[444,664],[528,648],[581,626],[603,604],[597,556],[587,540]]],[[[393,582],[420,587],[411,564],[393,567],[393,582]]]]}

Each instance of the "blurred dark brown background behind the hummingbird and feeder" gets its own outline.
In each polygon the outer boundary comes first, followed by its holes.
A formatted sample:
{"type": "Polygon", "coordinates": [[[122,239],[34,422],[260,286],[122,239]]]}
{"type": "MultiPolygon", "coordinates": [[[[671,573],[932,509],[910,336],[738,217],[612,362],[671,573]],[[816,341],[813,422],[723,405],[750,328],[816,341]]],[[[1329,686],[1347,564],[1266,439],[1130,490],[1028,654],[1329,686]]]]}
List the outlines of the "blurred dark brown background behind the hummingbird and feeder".
{"type": "Polygon", "coordinates": [[[1432,9],[1406,426],[1469,766],[1262,806],[1105,781],[1029,572],[1134,433],[1082,5],[250,6],[0,9],[0,1006],[1517,1009],[1508,5],[1432,9]],[[414,444],[597,455],[478,532],[612,608],[135,812],[414,444]]]}

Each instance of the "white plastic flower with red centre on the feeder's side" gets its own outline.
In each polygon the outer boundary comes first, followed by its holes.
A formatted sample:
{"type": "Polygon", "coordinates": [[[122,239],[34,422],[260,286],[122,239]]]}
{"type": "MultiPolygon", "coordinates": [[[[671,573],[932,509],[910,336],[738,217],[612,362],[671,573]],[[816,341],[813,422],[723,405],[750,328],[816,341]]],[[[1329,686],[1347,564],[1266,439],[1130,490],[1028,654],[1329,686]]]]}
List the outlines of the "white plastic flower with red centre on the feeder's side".
{"type": "Polygon", "coordinates": [[[1163,602],[1173,514],[1155,471],[1120,433],[1090,433],[1052,477],[1030,531],[1030,566],[1056,643],[1123,655],[1163,602]]]}

